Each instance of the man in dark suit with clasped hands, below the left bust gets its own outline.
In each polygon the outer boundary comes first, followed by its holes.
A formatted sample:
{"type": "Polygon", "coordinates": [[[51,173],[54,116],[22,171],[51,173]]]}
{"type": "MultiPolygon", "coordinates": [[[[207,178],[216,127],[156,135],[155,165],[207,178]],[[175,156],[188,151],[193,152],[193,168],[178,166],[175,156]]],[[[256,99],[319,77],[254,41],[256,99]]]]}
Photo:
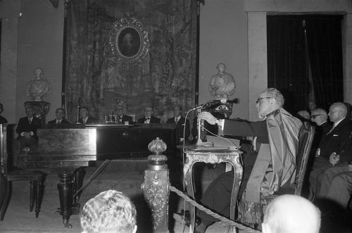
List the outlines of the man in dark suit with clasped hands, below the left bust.
{"type": "Polygon", "coordinates": [[[42,126],[42,122],[34,117],[34,110],[31,107],[25,109],[25,118],[20,118],[16,128],[20,149],[29,148],[34,150],[38,146],[37,129],[42,126]]]}

